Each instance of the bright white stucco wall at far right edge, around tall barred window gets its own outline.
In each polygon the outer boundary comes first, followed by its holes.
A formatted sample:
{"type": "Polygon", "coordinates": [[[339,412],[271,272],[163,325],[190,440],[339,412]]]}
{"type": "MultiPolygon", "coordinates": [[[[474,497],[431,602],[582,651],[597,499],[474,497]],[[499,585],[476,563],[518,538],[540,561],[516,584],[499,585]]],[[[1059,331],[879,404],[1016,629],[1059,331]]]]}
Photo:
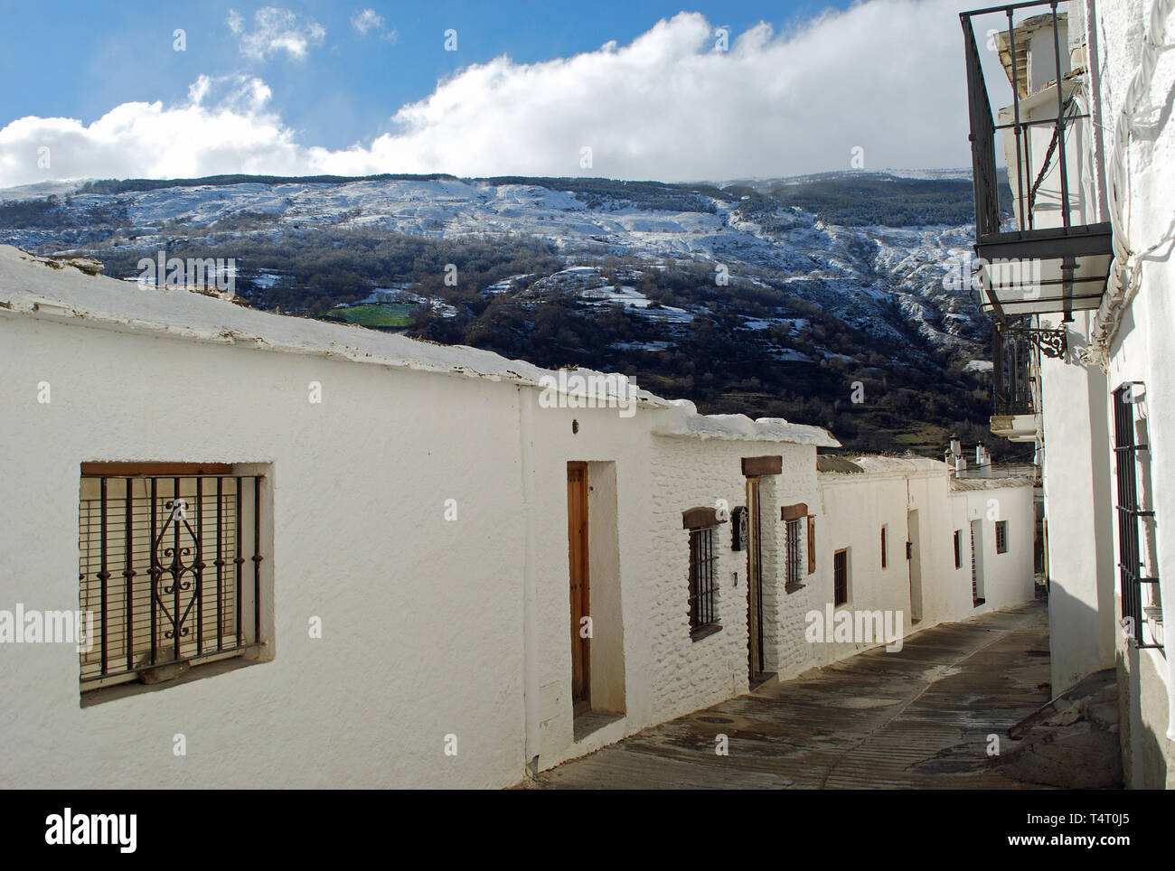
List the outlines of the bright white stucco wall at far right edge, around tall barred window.
{"type": "MultiPolygon", "coordinates": [[[[1175,516],[1175,492],[1166,486],[1175,479],[1175,373],[1170,365],[1175,333],[1175,263],[1169,256],[1175,198],[1175,123],[1161,108],[1169,106],[1175,89],[1175,56],[1169,50],[1159,52],[1152,76],[1140,80],[1141,99],[1128,141],[1117,142],[1115,136],[1123,101],[1142,58],[1152,9],[1152,2],[1142,0],[1103,0],[1096,5],[1092,36],[1100,68],[1095,89],[1104,117],[1101,144],[1107,155],[1115,148],[1124,150],[1129,168],[1129,183],[1120,194],[1122,229],[1134,252],[1157,245],[1140,264],[1137,296],[1124,313],[1110,347],[1106,380],[1108,392],[1128,382],[1146,385],[1143,412],[1150,441],[1150,478],[1155,484],[1153,507],[1157,516],[1154,545],[1163,624],[1170,626],[1175,619],[1175,536],[1164,535],[1162,524],[1164,518],[1175,516]]],[[[1166,33],[1156,36],[1156,41],[1169,45],[1173,28],[1175,21],[1168,18],[1166,33]]],[[[1107,403],[1104,407],[1108,418],[1112,406],[1107,403]]],[[[1164,659],[1153,649],[1127,653],[1121,633],[1115,634],[1119,664],[1127,682],[1123,695],[1133,705],[1123,724],[1129,732],[1126,736],[1128,756],[1152,762],[1149,767],[1128,769],[1132,785],[1171,785],[1170,775],[1163,778],[1156,774],[1160,765],[1175,771],[1175,696],[1170,691],[1175,674],[1170,657],[1164,659]]]]}

